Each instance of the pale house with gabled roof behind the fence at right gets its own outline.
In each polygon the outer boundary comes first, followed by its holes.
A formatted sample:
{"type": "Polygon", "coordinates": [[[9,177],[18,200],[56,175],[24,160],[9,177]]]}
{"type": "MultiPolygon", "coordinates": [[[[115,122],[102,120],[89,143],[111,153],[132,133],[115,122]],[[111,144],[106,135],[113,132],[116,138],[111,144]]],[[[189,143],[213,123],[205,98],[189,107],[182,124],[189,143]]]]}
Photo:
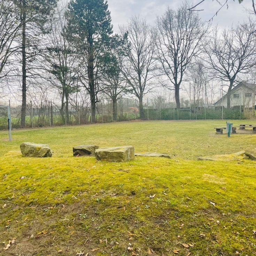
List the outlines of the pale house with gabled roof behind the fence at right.
{"type": "MultiPolygon", "coordinates": [[[[231,90],[230,106],[231,108],[255,108],[256,84],[239,83],[231,90]]],[[[227,107],[227,94],[220,98],[215,107],[227,107]]]]}

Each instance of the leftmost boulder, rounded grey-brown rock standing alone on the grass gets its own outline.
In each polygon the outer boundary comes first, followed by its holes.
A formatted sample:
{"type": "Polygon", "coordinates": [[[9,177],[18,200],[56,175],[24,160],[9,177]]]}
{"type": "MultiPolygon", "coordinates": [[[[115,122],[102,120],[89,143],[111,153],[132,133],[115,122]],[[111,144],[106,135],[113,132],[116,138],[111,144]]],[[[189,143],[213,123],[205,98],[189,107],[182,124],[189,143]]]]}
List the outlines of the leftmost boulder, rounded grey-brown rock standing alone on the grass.
{"type": "Polygon", "coordinates": [[[20,146],[23,156],[28,157],[52,157],[49,145],[24,142],[20,146]]]}

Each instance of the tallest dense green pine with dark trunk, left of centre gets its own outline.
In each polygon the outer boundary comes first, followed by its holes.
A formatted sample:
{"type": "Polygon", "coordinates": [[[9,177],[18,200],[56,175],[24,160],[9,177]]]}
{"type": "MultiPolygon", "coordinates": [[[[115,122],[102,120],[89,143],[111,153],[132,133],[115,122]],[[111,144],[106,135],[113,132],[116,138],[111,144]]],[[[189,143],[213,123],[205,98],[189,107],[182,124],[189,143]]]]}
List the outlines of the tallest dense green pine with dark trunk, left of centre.
{"type": "Polygon", "coordinates": [[[110,11],[104,0],[71,0],[68,5],[70,40],[79,52],[84,72],[79,72],[80,82],[91,99],[92,121],[95,121],[97,94],[99,92],[99,56],[110,44],[113,33],[110,11]]]}

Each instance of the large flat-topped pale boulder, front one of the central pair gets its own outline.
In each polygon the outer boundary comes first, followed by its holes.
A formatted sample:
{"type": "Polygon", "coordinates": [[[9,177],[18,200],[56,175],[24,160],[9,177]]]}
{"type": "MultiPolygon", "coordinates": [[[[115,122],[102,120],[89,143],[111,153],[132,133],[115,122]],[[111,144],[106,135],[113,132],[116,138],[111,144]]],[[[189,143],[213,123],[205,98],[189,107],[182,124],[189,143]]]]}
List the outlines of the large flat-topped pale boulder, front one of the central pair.
{"type": "Polygon", "coordinates": [[[127,162],[134,160],[134,154],[133,146],[99,148],[95,150],[97,160],[109,162],[127,162]]]}

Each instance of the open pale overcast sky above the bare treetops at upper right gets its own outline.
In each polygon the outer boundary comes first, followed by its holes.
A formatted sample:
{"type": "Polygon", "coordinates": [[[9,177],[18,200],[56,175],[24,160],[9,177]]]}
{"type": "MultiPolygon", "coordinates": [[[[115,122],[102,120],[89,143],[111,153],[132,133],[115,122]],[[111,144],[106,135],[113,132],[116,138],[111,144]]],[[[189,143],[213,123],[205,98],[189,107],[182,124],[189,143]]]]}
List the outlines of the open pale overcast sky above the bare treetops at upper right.
{"type": "MultiPolygon", "coordinates": [[[[200,0],[188,0],[190,3],[198,3],[200,0]]],[[[132,15],[140,15],[146,20],[154,24],[156,16],[162,15],[166,6],[177,8],[182,0],[108,0],[109,10],[111,11],[112,23],[114,31],[118,32],[118,24],[125,24],[132,15]]],[[[219,0],[224,3],[225,0],[219,0]]],[[[236,24],[238,21],[247,19],[245,9],[252,9],[252,1],[244,0],[242,4],[238,0],[228,0],[228,9],[223,7],[214,17],[213,24],[218,24],[220,27],[236,24]]],[[[219,3],[214,0],[205,0],[200,5],[200,16],[203,21],[208,21],[219,9],[219,3]]]]}

